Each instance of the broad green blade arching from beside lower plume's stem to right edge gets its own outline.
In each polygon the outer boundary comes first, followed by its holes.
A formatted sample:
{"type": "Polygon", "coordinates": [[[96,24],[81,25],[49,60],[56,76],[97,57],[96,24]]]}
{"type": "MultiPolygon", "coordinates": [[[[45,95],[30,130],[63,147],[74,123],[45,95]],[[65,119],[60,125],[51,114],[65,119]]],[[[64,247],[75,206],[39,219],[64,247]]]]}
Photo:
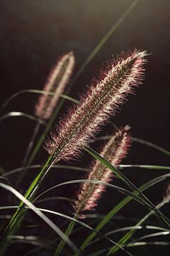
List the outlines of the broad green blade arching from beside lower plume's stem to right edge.
{"type": "MultiPolygon", "coordinates": [[[[140,186],[139,190],[140,191],[145,191],[147,188],[150,188],[152,186],[154,186],[155,184],[164,181],[166,178],[169,178],[170,174],[164,174],[162,176],[159,176],[157,178],[152,179],[151,181],[145,183],[144,185],[140,186]]],[[[133,193],[138,194],[138,191],[134,191],[133,193]]],[[[109,220],[111,220],[111,218],[113,218],[113,216],[119,212],[119,210],[121,210],[124,206],[126,206],[130,201],[132,200],[132,198],[130,198],[129,196],[124,198],[122,201],[120,201],[120,203],[118,203],[102,220],[100,223],[98,223],[98,225],[96,226],[96,230],[101,230],[101,228],[103,228],[109,220]]],[[[91,233],[85,240],[84,242],[81,244],[81,250],[85,250],[85,248],[89,245],[89,242],[91,242],[91,240],[93,238],[95,238],[96,233],[91,233]]],[[[75,255],[74,255],[75,256],[75,255]]]]}

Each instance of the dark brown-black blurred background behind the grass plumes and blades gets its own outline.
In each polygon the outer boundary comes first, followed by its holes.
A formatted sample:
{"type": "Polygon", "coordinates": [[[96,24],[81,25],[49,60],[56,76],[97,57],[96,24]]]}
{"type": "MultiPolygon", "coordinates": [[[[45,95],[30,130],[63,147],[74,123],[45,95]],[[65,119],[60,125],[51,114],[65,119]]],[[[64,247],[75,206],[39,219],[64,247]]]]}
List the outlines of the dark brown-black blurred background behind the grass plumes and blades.
{"type": "MultiPolygon", "coordinates": [[[[62,53],[73,50],[76,56],[75,73],[88,57],[96,44],[113,26],[118,18],[132,3],[130,0],[29,0],[0,1],[0,85],[1,104],[13,93],[23,89],[42,89],[50,68],[62,53]]],[[[115,124],[130,124],[132,135],[169,149],[169,0],[142,0],[125,19],[108,42],[75,82],[71,96],[78,98],[103,60],[116,55],[122,50],[133,48],[151,53],[146,65],[145,82],[137,88],[136,95],[122,107],[120,113],[112,119],[115,124]]],[[[20,95],[6,109],[33,114],[37,95],[20,95]]],[[[65,109],[63,109],[64,112],[65,109]]],[[[13,117],[1,122],[1,166],[7,171],[21,166],[26,146],[28,145],[35,123],[13,117]]],[[[103,134],[111,132],[108,125],[103,134]]],[[[95,147],[95,146],[94,146],[95,147]]],[[[42,163],[47,154],[42,149],[36,163],[42,163]]],[[[74,161],[73,165],[86,167],[91,159],[86,154],[84,161],[74,161]]],[[[159,164],[169,165],[169,157],[155,149],[149,149],[137,143],[124,164],[159,164]]],[[[137,186],[165,171],[131,169],[125,175],[137,186]]],[[[79,178],[80,174],[65,171],[50,174],[50,184],[79,178]],[[52,181],[50,178],[56,178],[52,181]]],[[[31,178],[30,178],[31,179],[31,178]]],[[[25,184],[23,184],[24,189],[25,184]]],[[[164,194],[166,183],[149,190],[147,196],[159,202],[164,194]]],[[[60,191],[66,195],[72,188],[60,191]]],[[[111,191],[110,191],[111,192],[111,191]]],[[[111,209],[112,193],[108,193],[104,204],[101,201],[99,211],[106,213],[111,209]]],[[[67,212],[67,207],[60,206],[67,212]]],[[[126,215],[141,216],[141,206],[132,206],[126,215]]],[[[169,210],[167,210],[168,212],[169,210]]],[[[124,213],[124,212],[123,212],[124,213]]],[[[122,213],[122,214],[123,214],[122,213]]]]}

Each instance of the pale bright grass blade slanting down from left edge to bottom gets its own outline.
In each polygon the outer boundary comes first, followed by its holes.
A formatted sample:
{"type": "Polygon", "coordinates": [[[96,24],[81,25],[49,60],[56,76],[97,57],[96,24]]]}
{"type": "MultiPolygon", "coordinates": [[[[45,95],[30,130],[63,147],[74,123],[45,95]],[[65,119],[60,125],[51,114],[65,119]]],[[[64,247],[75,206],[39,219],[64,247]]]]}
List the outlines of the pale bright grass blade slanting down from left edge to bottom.
{"type": "MultiPolygon", "coordinates": [[[[45,223],[47,225],[50,226],[50,228],[52,228],[52,230],[55,231],[55,233],[57,233],[57,235],[60,235],[60,237],[67,243],[67,245],[69,245],[69,247],[72,248],[72,250],[74,252],[79,252],[79,249],[77,248],[76,245],[74,245],[74,243],[69,240],[69,238],[67,238],[67,236],[64,235],[64,233],[62,232],[62,230],[60,230],[60,228],[57,227],[57,225],[55,225],[55,223],[53,223],[49,218],[47,218],[46,215],[44,215],[40,210],[38,210],[38,208],[36,208],[33,203],[30,203],[30,201],[28,201],[24,196],[21,195],[21,193],[19,193],[18,191],[16,191],[15,188],[8,186],[4,183],[0,183],[1,188],[6,189],[7,191],[10,191],[11,193],[13,193],[13,195],[15,195],[18,199],[20,199],[21,201],[23,201],[23,203],[26,204],[26,206],[28,206],[31,210],[33,210],[33,212],[38,215],[40,218],[42,218],[42,220],[45,221],[45,223]]],[[[4,246],[6,242],[4,242],[4,246]]],[[[0,255],[3,255],[3,247],[1,247],[1,252],[0,255]]]]}

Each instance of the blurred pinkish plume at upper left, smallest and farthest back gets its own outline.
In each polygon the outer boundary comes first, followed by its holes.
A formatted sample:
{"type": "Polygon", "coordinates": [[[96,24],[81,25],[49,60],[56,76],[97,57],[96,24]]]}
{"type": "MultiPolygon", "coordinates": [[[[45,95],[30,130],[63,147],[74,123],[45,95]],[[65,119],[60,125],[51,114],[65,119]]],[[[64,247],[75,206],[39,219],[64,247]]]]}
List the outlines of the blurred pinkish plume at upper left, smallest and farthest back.
{"type": "Polygon", "coordinates": [[[74,54],[69,52],[63,55],[47,78],[43,90],[46,92],[54,92],[54,96],[40,95],[37,104],[35,105],[35,115],[40,119],[50,118],[55,106],[57,105],[60,96],[69,82],[74,68],[74,54]]]}

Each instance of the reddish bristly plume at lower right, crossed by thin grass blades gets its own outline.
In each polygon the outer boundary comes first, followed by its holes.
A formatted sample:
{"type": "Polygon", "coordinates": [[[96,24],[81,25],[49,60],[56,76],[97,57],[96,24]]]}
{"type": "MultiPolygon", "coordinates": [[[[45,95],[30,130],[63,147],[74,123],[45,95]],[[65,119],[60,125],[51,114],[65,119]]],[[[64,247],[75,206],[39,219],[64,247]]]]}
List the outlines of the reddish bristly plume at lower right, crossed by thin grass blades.
{"type": "MultiPolygon", "coordinates": [[[[99,153],[104,159],[118,166],[120,161],[128,153],[131,143],[129,132],[130,127],[125,126],[115,132],[113,137],[103,146],[99,153]]],[[[86,179],[109,182],[113,178],[113,171],[106,168],[100,161],[94,160],[89,168],[86,179]]],[[[95,183],[82,183],[77,192],[77,200],[74,203],[74,210],[77,216],[81,215],[84,210],[91,210],[97,205],[98,198],[101,197],[106,186],[95,183]]]]}

